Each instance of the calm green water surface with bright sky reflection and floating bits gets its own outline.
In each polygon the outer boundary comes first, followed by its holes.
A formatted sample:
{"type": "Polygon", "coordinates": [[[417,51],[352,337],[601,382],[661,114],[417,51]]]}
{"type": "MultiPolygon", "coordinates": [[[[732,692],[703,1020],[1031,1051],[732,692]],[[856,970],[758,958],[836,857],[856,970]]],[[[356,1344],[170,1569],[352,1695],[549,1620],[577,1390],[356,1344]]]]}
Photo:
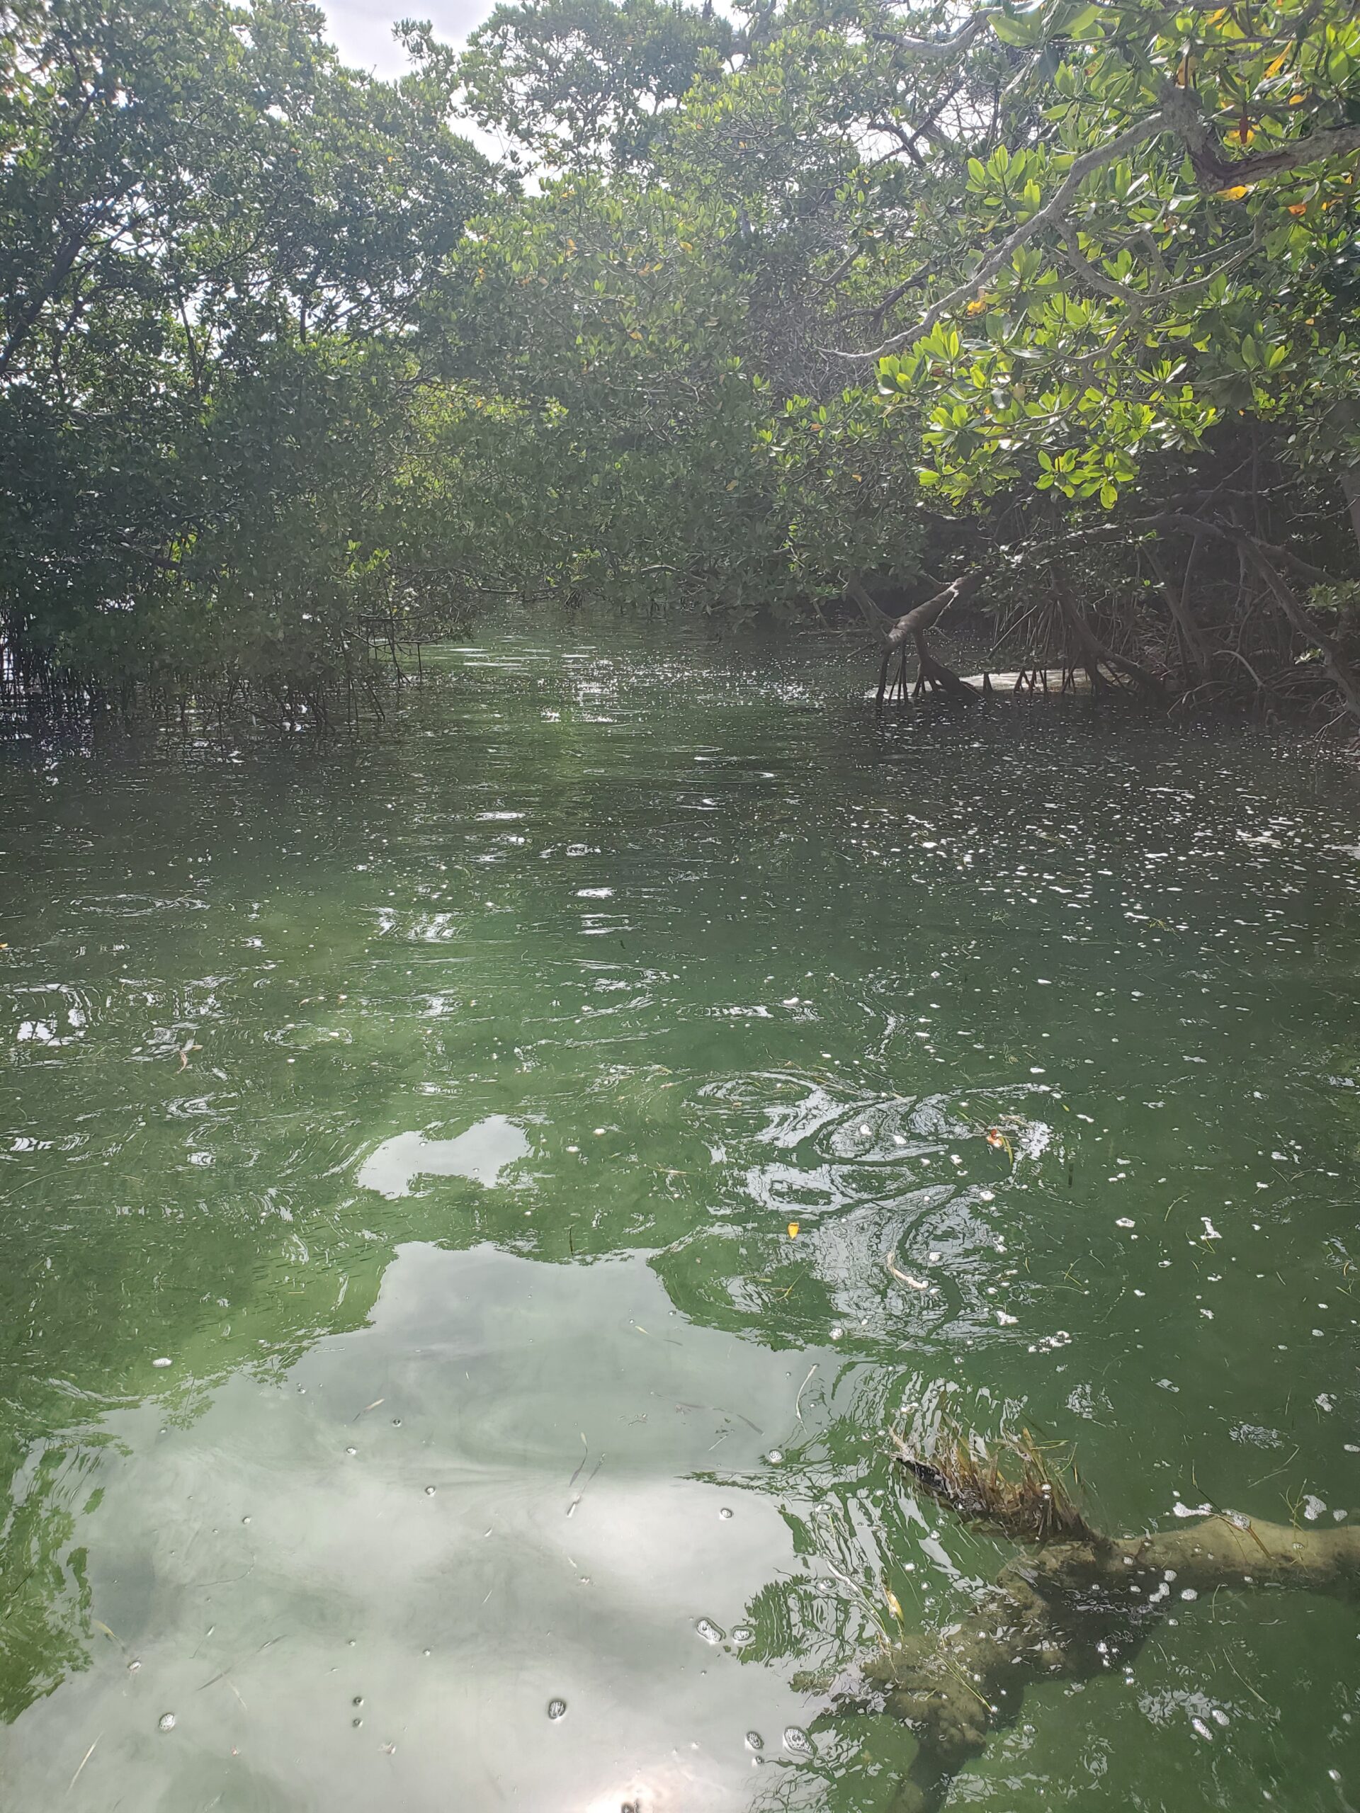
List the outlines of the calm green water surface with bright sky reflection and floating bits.
{"type": "MultiPolygon", "coordinates": [[[[1351,774],[863,651],[426,669],[0,769],[7,1813],[887,1809],[792,1677],[1006,1559],[885,1459],[941,1394],[1113,1530],[1360,1514],[1351,774]]],[[[1344,1809],[1358,1635],[1177,1603],[950,1806],[1344,1809]]]]}

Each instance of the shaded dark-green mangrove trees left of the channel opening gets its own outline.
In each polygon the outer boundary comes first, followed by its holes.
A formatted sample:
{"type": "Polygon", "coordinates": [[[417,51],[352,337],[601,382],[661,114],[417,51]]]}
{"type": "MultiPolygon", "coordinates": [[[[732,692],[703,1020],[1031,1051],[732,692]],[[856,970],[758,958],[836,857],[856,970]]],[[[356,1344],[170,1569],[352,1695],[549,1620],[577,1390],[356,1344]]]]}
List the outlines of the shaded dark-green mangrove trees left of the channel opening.
{"type": "MultiPolygon", "coordinates": [[[[290,0],[33,0],[0,38],[0,624],[105,687],[325,694],[428,589],[417,303],[491,172],[290,0]],[[381,526],[381,533],[379,533],[381,526]]],[[[442,577],[437,586],[442,595],[442,577]]]]}

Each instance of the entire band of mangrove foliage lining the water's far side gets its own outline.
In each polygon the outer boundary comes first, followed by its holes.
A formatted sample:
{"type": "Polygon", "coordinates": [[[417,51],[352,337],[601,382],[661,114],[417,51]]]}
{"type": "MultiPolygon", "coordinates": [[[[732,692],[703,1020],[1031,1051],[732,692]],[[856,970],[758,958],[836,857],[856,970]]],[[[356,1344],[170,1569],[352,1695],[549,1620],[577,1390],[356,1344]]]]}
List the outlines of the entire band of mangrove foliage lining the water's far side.
{"type": "Polygon", "coordinates": [[[15,647],[323,689],[481,595],[963,578],[1012,665],[1360,711],[1345,0],[526,0],[395,87],[287,0],[15,16],[15,647]]]}

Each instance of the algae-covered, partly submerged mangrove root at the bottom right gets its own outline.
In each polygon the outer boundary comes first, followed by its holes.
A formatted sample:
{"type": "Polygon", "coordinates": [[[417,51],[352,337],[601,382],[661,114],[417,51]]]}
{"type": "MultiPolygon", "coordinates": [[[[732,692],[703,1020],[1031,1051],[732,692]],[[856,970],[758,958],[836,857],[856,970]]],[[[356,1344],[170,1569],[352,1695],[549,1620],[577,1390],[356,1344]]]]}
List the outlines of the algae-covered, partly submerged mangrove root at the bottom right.
{"type": "Polygon", "coordinates": [[[952,1438],[928,1456],[894,1443],[939,1503],[1041,1545],[1008,1561],[961,1623],[907,1637],[832,1690],[841,1708],[883,1710],[914,1730],[919,1750],[894,1813],[936,1813],[959,1769],[1017,1717],[1030,1682],[1088,1681],[1132,1663],[1186,1592],[1293,1586],[1360,1599],[1360,1528],[1219,1512],[1180,1530],[1106,1537],[1028,1443],[981,1458],[952,1438]]]}

